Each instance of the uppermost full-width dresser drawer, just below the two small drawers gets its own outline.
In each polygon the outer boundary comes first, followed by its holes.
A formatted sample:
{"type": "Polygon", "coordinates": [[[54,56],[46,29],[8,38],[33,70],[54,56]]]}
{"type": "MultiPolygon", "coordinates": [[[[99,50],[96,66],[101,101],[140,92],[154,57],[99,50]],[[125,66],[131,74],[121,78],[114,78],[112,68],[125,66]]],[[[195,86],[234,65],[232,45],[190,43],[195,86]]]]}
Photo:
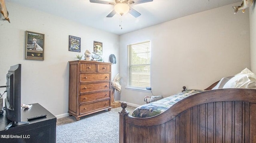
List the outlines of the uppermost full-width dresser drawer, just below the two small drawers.
{"type": "Polygon", "coordinates": [[[80,82],[110,80],[110,73],[81,73],[80,82]]]}

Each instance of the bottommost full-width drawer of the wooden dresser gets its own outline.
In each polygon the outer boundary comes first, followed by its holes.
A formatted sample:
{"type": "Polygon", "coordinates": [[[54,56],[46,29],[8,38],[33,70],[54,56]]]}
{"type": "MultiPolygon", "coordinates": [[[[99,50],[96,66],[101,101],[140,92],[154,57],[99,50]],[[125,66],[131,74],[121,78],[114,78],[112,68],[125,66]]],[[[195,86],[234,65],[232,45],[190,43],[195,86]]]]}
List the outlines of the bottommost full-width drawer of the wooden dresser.
{"type": "Polygon", "coordinates": [[[80,114],[84,114],[87,112],[92,112],[94,110],[99,110],[109,106],[110,106],[110,100],[104,100],[104,101],[100,101],[92,104],[80,105],[79,111],[80,111],[80,114]]]}

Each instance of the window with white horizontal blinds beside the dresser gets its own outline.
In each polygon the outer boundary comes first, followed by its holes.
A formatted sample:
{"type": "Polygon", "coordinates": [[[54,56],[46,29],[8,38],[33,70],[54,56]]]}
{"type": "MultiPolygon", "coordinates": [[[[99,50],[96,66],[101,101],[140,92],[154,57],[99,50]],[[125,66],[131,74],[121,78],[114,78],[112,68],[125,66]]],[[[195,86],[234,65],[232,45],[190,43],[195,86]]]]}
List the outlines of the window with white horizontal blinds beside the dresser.
{"type": "Polygon", "coordinates": [[[150,41],[128,45],[127,77],[128,87],[150,87],[150,41]]]}

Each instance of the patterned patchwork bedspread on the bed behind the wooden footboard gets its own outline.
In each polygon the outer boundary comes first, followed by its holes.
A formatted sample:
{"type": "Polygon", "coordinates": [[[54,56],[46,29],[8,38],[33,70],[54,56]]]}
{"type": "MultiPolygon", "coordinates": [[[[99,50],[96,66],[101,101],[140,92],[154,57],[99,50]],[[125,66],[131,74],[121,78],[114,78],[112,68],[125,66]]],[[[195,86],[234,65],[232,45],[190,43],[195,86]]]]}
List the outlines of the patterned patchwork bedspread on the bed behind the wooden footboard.
{"type": "Polygon", "coordinates": [[[166,111],[167,109],[169,109],[176,102],[178,102],[188,96],[191,96],[193,94],[202,92],[202,91],[204,91],[204,90],[189,89],[184,92],[180,92],[178,94],[168,96],[168,97],[158,100],[156,102],[144,104],[144,105],[136,108],[133,111],[132,116],[137,117],[137,118],[147,118],[147,117],[156,116],[156,115],[161,114],[162,112],[166,111]]]}

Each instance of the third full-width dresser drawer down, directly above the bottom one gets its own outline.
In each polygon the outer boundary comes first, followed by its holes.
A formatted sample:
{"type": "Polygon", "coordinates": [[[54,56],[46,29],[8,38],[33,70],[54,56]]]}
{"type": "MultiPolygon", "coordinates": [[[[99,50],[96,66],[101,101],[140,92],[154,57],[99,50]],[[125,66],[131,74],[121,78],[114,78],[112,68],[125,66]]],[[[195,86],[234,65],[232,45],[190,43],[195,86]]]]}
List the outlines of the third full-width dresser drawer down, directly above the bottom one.
{"type": "Polygon", "coordinates": [[[110,91],[80,95],[80,104],[104,98],[110,98],[110,91]]]}

